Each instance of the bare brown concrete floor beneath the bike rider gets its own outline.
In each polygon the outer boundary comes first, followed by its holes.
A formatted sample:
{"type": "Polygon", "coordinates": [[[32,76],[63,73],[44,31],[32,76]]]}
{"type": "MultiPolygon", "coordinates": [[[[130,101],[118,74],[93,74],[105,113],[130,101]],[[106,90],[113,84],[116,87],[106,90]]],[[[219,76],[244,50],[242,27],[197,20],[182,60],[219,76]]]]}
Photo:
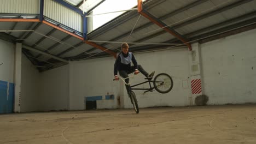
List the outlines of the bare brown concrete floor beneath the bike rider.
{"type": "Polygon", "coordinates": [[[256,143],[256,105],[0,115],[0,143],[256,143]]]}

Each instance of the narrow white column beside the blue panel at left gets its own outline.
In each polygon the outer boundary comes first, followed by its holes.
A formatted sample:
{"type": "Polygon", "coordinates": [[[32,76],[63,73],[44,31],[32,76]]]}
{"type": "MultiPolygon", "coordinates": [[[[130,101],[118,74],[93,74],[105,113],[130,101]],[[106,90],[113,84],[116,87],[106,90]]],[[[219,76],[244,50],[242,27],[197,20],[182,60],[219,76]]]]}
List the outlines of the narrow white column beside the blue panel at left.
{"type": "Polygon", "coordinates": [[[15,83],[14,112],[20,112],[21,56],[22,56],[22,44],[16,43],[15,63],[14,63],[14,68],[15,68],[14,69],[14,83],[15,83]]]}

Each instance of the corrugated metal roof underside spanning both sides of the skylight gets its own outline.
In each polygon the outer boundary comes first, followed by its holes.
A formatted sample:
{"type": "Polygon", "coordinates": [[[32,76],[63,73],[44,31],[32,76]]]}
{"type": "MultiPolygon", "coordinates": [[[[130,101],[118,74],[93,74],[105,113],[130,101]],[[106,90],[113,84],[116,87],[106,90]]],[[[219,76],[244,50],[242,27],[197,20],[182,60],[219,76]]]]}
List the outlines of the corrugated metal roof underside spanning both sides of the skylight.
{"type": "MultiPolygon", "coordinates": [[[[74,6],[82,2],[81,0],[66,0],[74,6]]],[[[230,28],[235,28],[248,23],[256,22],[256,1],[255,0],[161,0],[148,1],[144,3],[144,9],[156,17],[157,21],[170,25],[171,31],[175,31],[188,41],[202,39],[206,37],[202,34],[223,32],[230,28]],[[237,25],[237,23],[239,25],[237,25]],[[221,29],[223,28],[223,29],[221,29]]],[[[141,16],[135,29],[139,14],[136,11],[129,11],[118,16],[116,19],[106,23],[100,28],[88,34],[89,40],[100,41],[127,41],[138,43],[182,43],[172,34],[164,31],[158,25],[141,16]],[[130,35],[131,33],[131,35],[130,35]],[[127,38],[129,37],[129,40],[127,38]]],[[[23,44],[36,49],[48,52],[52,55],[66,58],[73,61],[97,56],[108,56],[109,54],[100,49],[83,43],[81,39],[70,34],[45,25],[37,26],[38,22],[0,22],[1,30],[33,29],[35,32],[6,32],[5,35],[12,39],[26,38],[21,41],[23,44]],[[37,27],[35,27],[37,26],[37,27]],[[27,34],[31,33],[27,37],[27,34]],[[40,34],[43,35],[40,35],[40,34]],[[9,36],[8,36],[9,34],[9,36]],[[44,35],[48,35],[45,37],[44,35]],[[14,37],[14,38],[13,38],[14,37]],[[55,40],[53,40],[55,39],[55,40]],[[60,42],[58,42],[60,41],[60,42]],[[40,42],[40,43],[39,43],[40,42]],[[37,44],[34,45],[34,44],[37,44]],[[75,48],[74,48],[75,47],[75,48]],[[90,53],[90,55],[88,55],[90,53]],[[98,53],[98,54],[97,54],[98,53]],[[95,55],[92,56],[91,55],[95,55]]],[[[79,26],[80,27],[80,26],[79,26]]],[[[72,32],[72,29],[70,30],[72,32]]],[[[99,43],[98,45],[114,52],[120,52],[120,45],[115,43],[99,43]]],[[[152,50],[161,47],[160,45],[130,44],[132,51],[152,50]]],[[[167,47],[167,46],[165,46],[167,47]]],[[[169,46],[170,47],[170,46],[169,46]]],[[[40,56],[38,53],[30,51],[32,57],[36,57],[39,64],[53,61],[49,56],[40,56]],[[49,59],[51,59],[49,61],[49,59]]],[[[49,65],[49,64],[47,64],[49,65]]]]}

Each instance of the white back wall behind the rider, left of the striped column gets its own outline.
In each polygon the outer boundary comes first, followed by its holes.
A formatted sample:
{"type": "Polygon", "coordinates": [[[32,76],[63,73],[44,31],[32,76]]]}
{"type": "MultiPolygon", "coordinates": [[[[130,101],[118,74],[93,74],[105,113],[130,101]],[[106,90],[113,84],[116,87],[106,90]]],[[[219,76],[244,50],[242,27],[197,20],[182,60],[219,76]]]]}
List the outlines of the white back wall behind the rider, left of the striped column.
{"type": "MultiPolygon", "coordinates": [[[[155,70],[155,75],[167,73],[172,76],[174,86],[171,92],[160,94],[158,92],[136,91],[139,107],[151,106],[184,106],[189,105],[189,88],[183,88],[183,80],[188,80],[188,50],[164,50],[147,53],[135,53],[138,64],[141,64],[148,73],[155,70]]],[[[98,100],[100,109],[118,108],[118,96],[124,97],[124,108],[131,108],[131,101],[121,81],[113,81],[114,57],[91,59],[87,61],[72,62],[70,64],[70,108],[71,110],[84,109],[84,97],[114,94],[114,100],[98,100]],[[124,90],[125,89],[125,90],[124,90]]],[[[133,83],[144,81],[139,74],[133,83]]],[[[187,82],[187,81],[186,81],[187,82]]],[[[187,83],[188,85],[188,83],[187,83]]],[[[148,87],[144,84],[142,87],[148,87]]]]}

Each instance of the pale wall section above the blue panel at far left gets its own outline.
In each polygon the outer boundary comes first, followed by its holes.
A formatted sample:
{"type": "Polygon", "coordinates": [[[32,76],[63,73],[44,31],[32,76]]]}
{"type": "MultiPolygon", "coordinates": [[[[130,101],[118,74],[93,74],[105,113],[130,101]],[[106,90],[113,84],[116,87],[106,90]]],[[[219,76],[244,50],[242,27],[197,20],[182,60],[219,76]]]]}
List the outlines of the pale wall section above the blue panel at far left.
{"type": "Polygon", "coordinates": [[[15,45],[0,40],[0,80],[14,82],[15,45]]]}

